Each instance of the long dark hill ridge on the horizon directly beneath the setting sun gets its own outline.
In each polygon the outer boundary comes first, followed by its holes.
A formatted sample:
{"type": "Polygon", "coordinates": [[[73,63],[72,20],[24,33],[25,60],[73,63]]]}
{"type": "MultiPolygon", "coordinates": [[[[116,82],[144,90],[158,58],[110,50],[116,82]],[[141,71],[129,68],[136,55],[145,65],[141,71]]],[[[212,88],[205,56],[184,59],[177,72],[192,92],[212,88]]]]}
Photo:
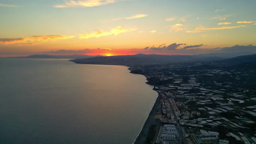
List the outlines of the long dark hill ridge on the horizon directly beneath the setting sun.
{"type": "Polygon", "coordinates": [[[92,57],[72,59],[72,62],[80,64],[106,64],[106,65],[144,65],[144,64],[164,64],[178,62],[201,62],[217,61],[220,57],[202,57],[195,55],[125,55],[109,57],[92,57]]]}

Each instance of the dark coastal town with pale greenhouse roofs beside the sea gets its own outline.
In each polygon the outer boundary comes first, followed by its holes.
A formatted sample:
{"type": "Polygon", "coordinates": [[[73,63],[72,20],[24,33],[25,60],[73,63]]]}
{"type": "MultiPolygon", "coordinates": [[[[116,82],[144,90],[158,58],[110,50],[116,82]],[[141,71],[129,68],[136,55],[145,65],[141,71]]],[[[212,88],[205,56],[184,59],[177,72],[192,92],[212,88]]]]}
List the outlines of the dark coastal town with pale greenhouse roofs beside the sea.
{"type": "Polygon", "coordinates": [[[159,94],[145,143],[256,143],[255,67],[209,62],[130,70],[159,94]]]}

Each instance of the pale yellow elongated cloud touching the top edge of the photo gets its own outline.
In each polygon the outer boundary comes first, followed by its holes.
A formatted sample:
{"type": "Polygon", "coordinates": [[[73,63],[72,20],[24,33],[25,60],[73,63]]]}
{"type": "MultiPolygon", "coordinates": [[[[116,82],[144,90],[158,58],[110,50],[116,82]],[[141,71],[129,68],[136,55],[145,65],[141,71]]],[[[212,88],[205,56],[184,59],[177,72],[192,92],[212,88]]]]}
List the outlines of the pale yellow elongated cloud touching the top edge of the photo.
{"type": "Polygon", "coordinates": [[[67,0],[65,4],[54,5],[55,8],[77,8],[77,7],[96,7],[100,5],[106,5],[110,3],[116,3],[119,1],[130,1],[130,0],[67,0]]]}

